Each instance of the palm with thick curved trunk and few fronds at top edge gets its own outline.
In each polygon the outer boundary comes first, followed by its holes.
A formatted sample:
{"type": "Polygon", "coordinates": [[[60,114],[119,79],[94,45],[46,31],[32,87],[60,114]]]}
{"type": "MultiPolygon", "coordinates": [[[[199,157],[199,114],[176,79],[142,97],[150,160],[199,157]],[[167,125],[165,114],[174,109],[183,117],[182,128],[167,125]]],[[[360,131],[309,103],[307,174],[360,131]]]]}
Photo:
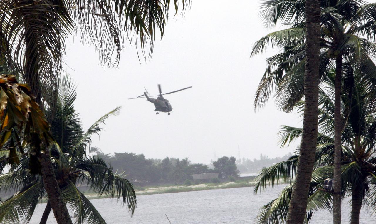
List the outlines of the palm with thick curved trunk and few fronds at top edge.
{"type": "MultiPolygon", "coordinates": [[[[288,11],[280,7],[281,1],[264,1],[264,21],[276,25],[277,21],[300,20],[301,12],[288,11]]],[[[286,1],[287,2],[287,1],[286,1]]],[[[294,1],[289,1],[294,5],[294,1]]],[[[296,1],[295,4],[301,4],[296,1]]],[[[282,5],[283,6],[283,5],[282,5]]],[[[300,157],[297,165],[297,177],[291,196],[287,223],[302,223],[305,216],[309,183],[314,165],[315,142],[317,139],[318,80],[320,65],[320,2],[306,0],[300,8],[306,11],[306,63],[304,75],[304,96],[306,100],[303,118],[303,134],[300,157]]],[[[261,47],[262,49],[263,47],[261,47]]],[[[255,48],[253,48],[254,51],[255,48]]]]}

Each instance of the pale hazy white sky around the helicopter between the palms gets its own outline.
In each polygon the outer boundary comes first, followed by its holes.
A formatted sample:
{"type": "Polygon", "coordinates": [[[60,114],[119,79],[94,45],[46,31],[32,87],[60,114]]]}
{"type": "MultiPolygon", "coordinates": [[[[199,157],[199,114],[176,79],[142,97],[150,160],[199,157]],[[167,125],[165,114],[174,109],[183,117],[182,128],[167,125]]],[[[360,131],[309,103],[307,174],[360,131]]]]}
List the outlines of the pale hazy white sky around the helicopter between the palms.
{"type": "MultiPolygon", "coordinates": [[[[105,153],[143,153],[147,158],[189,157],[208,164],[217,157],[276,157],[292,152],[279,148],[280,125],[300,126],[299,114],[277,110],[273,99],[255,112],[253,99],[264,73],[264,55],[249,58],[252,45],[265,29],[256,0],[193,0],[185,20],[171,19],[165,38],[156,41],[152,59],[138,61],[134,46],[123,50],[118,69],[104,69],[94,47],[79,38],[67,43],[66,67],[78,85],[76,110],[87,129],[117,106],[100,138],[92,146],[105,153]],[[213,4],[215,2],[215,4],[213,4]],[[127,100],[143,93],[152,95],[193,86],[166,95],[173,112],[155,114],[144,99],[127,100]]],[[[278,28],[278,27],[277,27],[278,28]]],[[[276,52],[276,51],[275,51],[276,52]]],[[[274,52],[274,53],[275,53],[274,52]]]]}

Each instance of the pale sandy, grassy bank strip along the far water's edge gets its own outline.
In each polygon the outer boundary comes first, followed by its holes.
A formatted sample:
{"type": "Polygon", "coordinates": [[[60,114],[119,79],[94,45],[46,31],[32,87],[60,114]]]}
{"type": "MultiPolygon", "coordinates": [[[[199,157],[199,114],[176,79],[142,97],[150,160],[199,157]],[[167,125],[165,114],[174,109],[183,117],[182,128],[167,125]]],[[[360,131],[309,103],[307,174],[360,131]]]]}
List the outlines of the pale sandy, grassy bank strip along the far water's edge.
{"type": "MultiPolygon", "coordinates": [[[[199,190],[215,190],[215,189],[227,189],[227,188],[238,188],[238,187],[253,187],[255,182],[253,181],[236,181],[227,183],[201,183],[193,184],[190,186],[185,186],[183,184],[177,185],[162,185],[162,186],[150,186],[150,187],[139,187],[135,186],[135,191],[137,196],[141,195],[152,195],[152,194],[167,194],[167,193],[178,193],[178,192],[190,192],[199,190]]],[[[88,199],[99,199],[99,198],[112,198],[106,196],[99,196],[98,194],[90,193],[90,191],[84,192],[86,198],[88,199]]]]}

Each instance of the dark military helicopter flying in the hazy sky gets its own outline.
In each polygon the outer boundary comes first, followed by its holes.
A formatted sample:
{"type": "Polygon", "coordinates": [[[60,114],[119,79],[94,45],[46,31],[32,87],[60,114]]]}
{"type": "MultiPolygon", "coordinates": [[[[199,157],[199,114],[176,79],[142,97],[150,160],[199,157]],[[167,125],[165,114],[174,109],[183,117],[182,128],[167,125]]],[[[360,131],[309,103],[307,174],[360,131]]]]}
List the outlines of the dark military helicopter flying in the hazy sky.
{"type": "Polygon", "coordinates": [[[175,90],[175,91],[172,91],[172,92],[169,92],[169,93],[162,94],[161,85],[158,84],[159,95],[156,95],[156,96],[158,96],[157,99],[152,98],[152,97],[155,97],[155,96],[148,96],[147,89],[145,89],[144,94],[142,94],[141,96],[137,96],[135,98],[129,98],[129,99],[146,98],[147,101],[152,102],[154,104],[154,106],[155,106],[154,111],[156,111],[156,114],[159,114],[158,111],[161,111],[161,112],[165,112],[168,115],[170,115],[170,112],[172,111],[171,104],[168,102],[167,99],[163,98],[163,95],[176,93],[176,92],[186,90],[186,89],[189,89],[189,88],[192,88],[192,87],[190,86],[190,87],[182,88],[180,90],[175,90]]]}

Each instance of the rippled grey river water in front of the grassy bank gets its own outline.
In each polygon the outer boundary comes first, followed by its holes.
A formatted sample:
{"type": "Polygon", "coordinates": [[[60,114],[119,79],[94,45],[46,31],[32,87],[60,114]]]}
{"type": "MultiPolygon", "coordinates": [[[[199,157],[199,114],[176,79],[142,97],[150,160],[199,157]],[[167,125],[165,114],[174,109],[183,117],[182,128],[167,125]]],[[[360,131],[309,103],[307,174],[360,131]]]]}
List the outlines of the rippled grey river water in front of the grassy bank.
{"type": "MultiPolygon", "coordinates": [[[[107,223],[168,224],[167,214],[172,224],[241,224],[255,223],[259,208],[276,197],[283,186],[276,186],[263,194],[253,194],[254,187],[202,190],[170,194],[140,195],[138,207],[131,218],[125,207],[116,199],[94,199],[91,203],[97,208],[107,223]]],[[[45,204],[39,204],[31,224],[39,224],[45,204]]],[[[350,207],[343,203],[342,220],[349,223],[350,207]]],[[[374,224],[375,217],[362,209],[362,224],[374,224]]],[[[56,223],[53,214],[48,224],[56,223]]],[[[310,224],[332,222],[332,214],[315,212],[310,224]]]]}

